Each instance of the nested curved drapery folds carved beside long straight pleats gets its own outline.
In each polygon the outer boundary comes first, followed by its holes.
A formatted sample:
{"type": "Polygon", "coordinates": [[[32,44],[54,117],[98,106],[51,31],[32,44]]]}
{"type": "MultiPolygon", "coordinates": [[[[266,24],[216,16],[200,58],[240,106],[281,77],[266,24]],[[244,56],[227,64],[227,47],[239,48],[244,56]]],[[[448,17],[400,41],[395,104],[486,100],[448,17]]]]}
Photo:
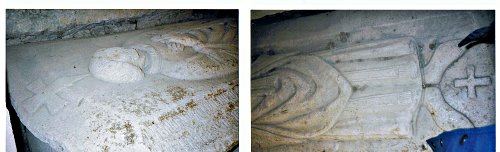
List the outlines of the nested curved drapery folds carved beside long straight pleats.
{"type": "MultiPolygon", "coordinates": [[[[264,62],[266,64],[266,62],[264,62]]],[[[330,129],[351,86],[314,56],[292,56],[252,71],[252,128],[292,138],[310,138],[330,129]]]]}

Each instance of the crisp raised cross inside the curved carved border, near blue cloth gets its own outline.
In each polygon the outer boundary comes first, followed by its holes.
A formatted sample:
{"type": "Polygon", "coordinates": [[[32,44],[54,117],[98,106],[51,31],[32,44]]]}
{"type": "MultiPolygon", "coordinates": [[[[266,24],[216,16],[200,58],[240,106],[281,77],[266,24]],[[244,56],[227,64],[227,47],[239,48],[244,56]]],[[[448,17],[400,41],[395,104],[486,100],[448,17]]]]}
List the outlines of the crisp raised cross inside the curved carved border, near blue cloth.
{"type": "Polygon", "coordinates": [[[474,66],[467,66],[467,78],[455,80],[455,87],[467,87],[467,96],[469,98],[476,98],[476,86],[490,85],[490,77],[479,77],[474,76],[474,66]]]}

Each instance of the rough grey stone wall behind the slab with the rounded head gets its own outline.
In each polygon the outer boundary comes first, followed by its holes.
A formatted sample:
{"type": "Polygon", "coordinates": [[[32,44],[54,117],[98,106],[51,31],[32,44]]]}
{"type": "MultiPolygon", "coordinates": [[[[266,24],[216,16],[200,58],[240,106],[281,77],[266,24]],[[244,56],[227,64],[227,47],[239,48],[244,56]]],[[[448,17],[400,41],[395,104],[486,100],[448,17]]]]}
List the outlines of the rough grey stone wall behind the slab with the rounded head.
{"type": "Polygon", "coordinates": [[[237,16],[237,10],[7,10],[7,46],[237,16]]]}

